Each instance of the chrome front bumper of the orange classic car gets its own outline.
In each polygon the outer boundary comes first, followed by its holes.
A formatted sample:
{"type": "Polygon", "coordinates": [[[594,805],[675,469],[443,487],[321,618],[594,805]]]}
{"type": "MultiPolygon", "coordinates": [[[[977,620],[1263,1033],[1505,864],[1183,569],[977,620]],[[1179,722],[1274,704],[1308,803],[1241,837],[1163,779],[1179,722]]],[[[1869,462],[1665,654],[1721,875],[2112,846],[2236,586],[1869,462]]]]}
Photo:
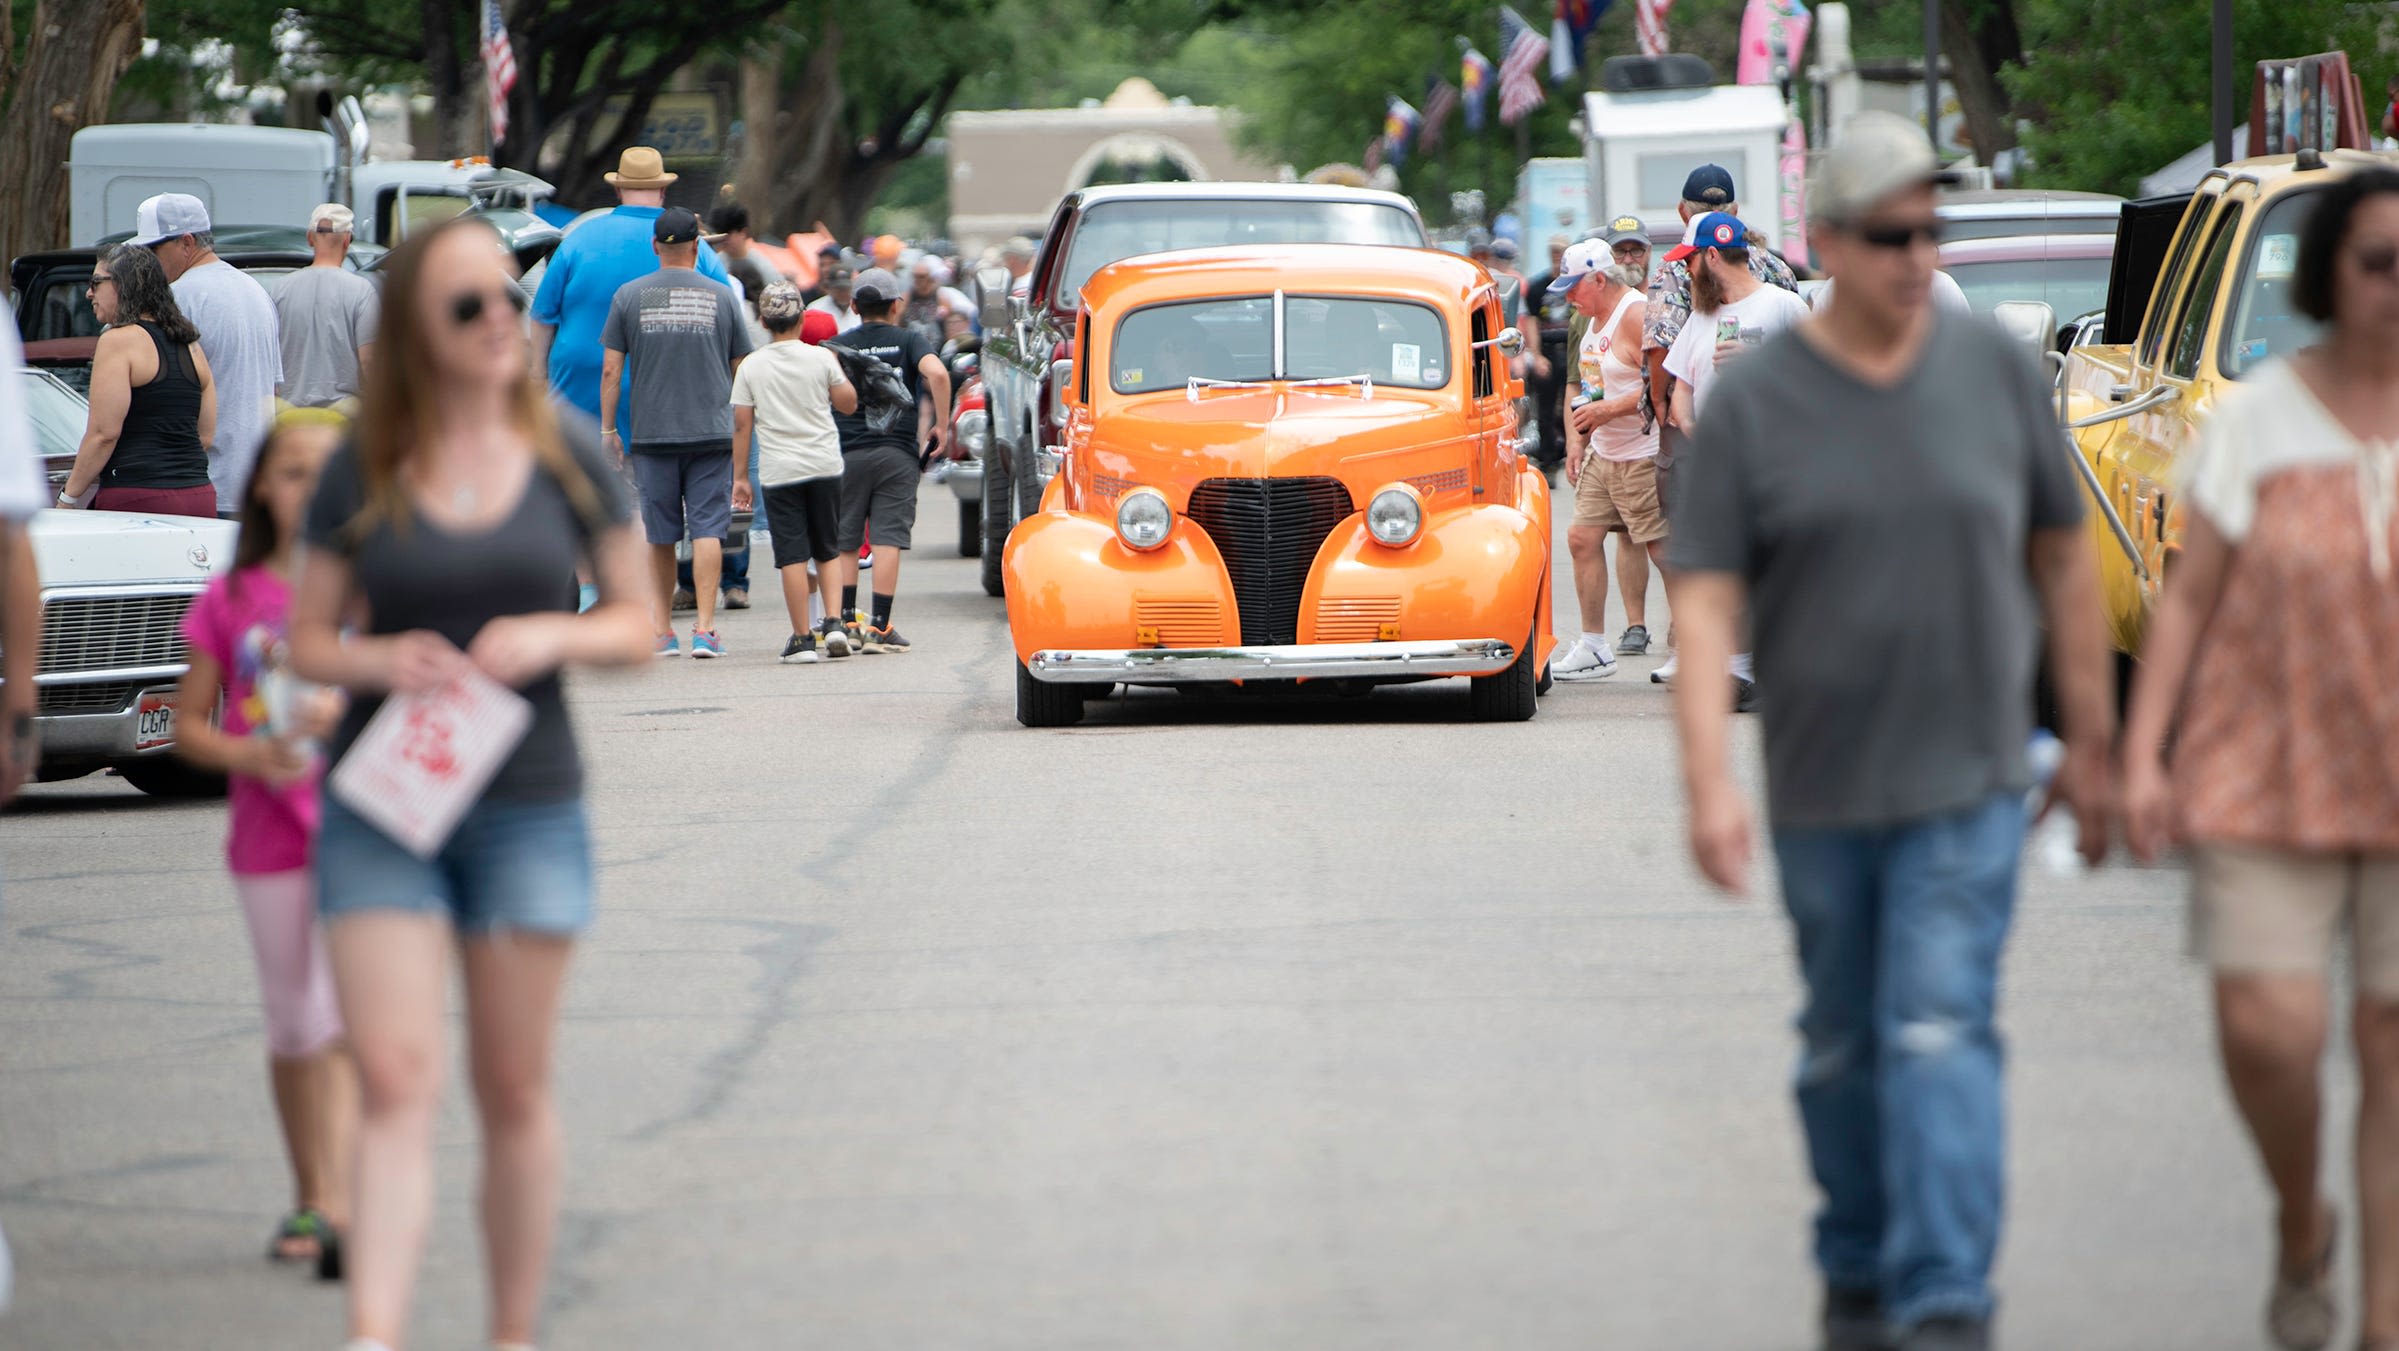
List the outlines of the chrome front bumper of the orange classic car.
{"type": "Polygon", "coordinates": [[[1291,643],[1276,648],[1125,648],[1032,655],[1027,670],[1051,684],[1183,684],[1228,679],[1451,677],[1504,672],[1516,646],[1499,638],[1439,643],[1291,643]]]}

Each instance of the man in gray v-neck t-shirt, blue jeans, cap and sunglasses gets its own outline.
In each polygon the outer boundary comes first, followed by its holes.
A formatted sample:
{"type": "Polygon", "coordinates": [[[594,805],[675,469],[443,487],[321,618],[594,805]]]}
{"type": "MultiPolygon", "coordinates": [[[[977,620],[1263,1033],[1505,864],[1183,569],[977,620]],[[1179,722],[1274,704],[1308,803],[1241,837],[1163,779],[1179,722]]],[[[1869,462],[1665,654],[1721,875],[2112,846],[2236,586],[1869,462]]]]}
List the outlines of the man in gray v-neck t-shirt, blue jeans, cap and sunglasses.
{"type": "Polygon", "coordinates": [[[2032,787],[2042,622],[2054,789],[2104,849],[2114,734],[2097,559],[2051,394],[1998,329],[1936,314],[1938,163],[1859,115],[1818,163],[1830,307],[1730,362],[1677,468],[1684,780],[1701,871],[1742,890],[1725,658],[1744,605],[1806,1010],[1823,1344],[1989,1346],[2003,1195],[1994,1008],[2032,787]]]}

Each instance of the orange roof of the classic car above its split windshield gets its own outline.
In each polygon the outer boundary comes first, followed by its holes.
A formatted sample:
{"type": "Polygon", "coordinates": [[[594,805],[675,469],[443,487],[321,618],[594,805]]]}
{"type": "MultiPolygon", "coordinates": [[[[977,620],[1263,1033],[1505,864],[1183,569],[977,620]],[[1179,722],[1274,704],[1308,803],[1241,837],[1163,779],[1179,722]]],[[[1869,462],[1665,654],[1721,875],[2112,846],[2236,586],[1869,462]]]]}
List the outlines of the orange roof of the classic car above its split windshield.
{"type": "Polygon", "coordinates": [[[1365,293],[1463,305],[1490,286],[1483,264],[1442,250],[1391,245],[1247,245],[1135,254],[1092,274],[1087,310],[1197,300],[1207,295],[1365,293]]]}

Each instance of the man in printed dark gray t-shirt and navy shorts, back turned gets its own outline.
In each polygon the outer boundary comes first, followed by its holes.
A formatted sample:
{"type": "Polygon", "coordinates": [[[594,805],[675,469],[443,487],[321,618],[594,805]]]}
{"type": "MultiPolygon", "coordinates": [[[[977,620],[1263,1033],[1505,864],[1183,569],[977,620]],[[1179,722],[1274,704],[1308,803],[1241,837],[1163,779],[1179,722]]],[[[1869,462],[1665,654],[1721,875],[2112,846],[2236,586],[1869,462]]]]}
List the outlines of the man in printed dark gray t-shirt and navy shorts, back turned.
{"type": "Polygon", "coordinates": [[[650,230],[657,271],[617,288],[600,329],[600,434],[633,451],[641,528],[657,578],[657,655],[674,638],[674,545],[691,533],[691,590],[698,619],[693,658],[722,658],[717,581],[734,521],[734,367],[748,355],[748,326],[734,293],[701,276],[701,218],[681,206],[657,214],[650,230]],[[617,389],[633,372],[633,425],[617,425],[617,389]]]}

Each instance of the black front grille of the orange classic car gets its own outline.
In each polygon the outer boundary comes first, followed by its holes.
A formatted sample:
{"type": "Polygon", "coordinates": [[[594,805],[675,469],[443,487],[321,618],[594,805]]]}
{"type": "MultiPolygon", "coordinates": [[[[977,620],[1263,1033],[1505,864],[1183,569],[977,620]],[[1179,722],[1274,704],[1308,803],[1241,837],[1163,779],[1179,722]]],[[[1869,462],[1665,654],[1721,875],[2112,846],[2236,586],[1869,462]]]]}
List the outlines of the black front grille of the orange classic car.
{"type": "Polygon", "coordinates": [[[1307,569],[1355,509],[1336,478],[1211,478],[1192,490],[1188,514],[1233,574],[1243,643],[1300,641],[1307,569]]]}

